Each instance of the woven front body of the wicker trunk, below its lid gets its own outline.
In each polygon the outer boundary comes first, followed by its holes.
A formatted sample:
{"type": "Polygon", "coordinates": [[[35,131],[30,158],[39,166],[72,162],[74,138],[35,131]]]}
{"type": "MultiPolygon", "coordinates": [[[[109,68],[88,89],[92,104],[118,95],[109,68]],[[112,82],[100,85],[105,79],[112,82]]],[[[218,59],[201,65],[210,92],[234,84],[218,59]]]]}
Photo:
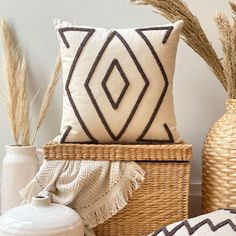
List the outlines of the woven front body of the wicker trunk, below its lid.
{"type": "Polygon", "coordinates": [[[188,217],[189,163],[139,162],[145,181],[97,236],[143,236],[188,217]]]}

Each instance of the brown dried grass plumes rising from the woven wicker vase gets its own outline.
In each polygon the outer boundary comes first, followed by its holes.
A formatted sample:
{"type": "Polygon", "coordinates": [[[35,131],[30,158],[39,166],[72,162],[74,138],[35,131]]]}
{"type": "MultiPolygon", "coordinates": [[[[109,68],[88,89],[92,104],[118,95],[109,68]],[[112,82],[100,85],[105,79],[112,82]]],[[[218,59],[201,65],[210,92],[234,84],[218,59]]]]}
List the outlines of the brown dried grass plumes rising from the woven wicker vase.
{"type": "Polygon", "coordinates": [[[221,60],[209,42],[200,22],[183,0],[131,0],[137,4],[151,5],[168,20],[185,22],[182,31],[183,40],[206,61],[228,93],[236,99],[236,4],[230,2],[233,12],[232,22],[223,13],[214,17],[222,44],[221,60]]]}

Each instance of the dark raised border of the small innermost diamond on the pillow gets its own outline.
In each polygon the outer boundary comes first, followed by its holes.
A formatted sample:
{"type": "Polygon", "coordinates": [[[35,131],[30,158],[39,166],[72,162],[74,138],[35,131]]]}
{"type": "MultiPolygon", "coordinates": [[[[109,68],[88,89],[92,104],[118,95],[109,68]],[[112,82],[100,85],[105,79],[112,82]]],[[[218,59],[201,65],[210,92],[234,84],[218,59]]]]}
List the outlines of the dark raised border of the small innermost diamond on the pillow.
{"type": "Polygon", "coordinates": [[[109,66],[109,68],[107,70],[107,73],[105,74],[104,79],[102,81],[102,87],[103,87],[104,92],[106,93],[107,98],[110,101],[113,109],[116,110],[119,107],[119,105],[122,101],[122,98],[124,97],[125,92],[127,91],[128,87],[129,87],[129,81],[128,81],[128,79],[127,79],[127,77],[126,77],[126,75],[125,75],[125,73],[124,73],[124,71],[123,71],[123,69],[122,69],[122,67],[121,67],[121,65],[120,65],[120,63],[117,59],[114,59],[112,61],[111,65],[109,66]],[[111,73],[112,73],[112,71],[114,70],[115,67],[118,69],[118,71],[121,75],[121,78],[125,82],[124,87],[123,87],[123,89],[122,89],[122,91],[121,91],[121,93],[120,93],[120,95],[119,95],[119,97],[116,101],[114,101],[114,99],[112,97],[112,94],[109,91],[109,88],[107,88],[107,81],[109,80],[109,78],[111,78],[110,75],[111,75],[111,73]]]}

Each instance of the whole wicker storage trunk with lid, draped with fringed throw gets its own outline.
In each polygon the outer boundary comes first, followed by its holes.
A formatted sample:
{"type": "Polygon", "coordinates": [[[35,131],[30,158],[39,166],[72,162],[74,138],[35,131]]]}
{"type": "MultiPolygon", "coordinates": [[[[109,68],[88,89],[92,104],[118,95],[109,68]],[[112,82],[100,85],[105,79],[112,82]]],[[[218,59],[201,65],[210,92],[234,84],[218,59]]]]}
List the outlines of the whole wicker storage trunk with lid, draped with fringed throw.
{"type": "Polygon", "coordinates": [[[95,231],[97,236],[144,236],[188,217],[192,146],[47,144],[46,159],[132,160],[145,181],[128,205],[95,231]]]}

